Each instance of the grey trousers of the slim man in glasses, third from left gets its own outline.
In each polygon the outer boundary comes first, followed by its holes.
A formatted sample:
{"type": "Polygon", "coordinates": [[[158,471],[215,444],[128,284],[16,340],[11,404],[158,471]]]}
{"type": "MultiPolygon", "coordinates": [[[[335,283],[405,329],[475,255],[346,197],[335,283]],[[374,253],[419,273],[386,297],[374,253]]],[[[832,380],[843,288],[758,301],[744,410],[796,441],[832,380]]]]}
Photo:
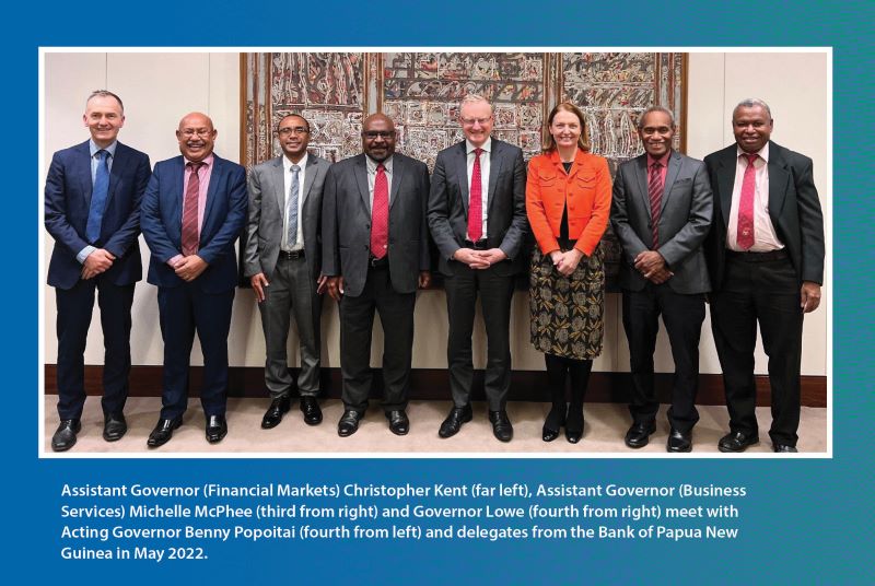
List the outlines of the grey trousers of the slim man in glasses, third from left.
{"type": "Polygon", "coordinates": [[[303,257],[280,259],[265,288],[265,301],[258,304],[261,329],[265,332],[265,385],[270,397],[289,396],[293,380],[289,372],[288,341],[291,319],[294,316],[298,340],[301,344],[301,372],[298,391],[301,396],[319,394],[319,320],[322,297],[316,294],[316,282],[311,279],[303,257]]]}

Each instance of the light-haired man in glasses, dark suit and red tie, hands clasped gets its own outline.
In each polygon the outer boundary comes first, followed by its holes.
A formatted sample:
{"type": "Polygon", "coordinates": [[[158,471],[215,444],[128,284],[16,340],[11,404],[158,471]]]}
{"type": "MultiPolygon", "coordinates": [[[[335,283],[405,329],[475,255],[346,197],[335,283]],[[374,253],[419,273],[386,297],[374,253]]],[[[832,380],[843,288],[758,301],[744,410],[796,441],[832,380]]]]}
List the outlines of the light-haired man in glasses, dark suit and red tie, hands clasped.
{"type": "Polygon", "coordinates": [[[471,333],[477,294],[488,338],[486,396],[497,438],[510,442],[511,298],[524,269],[526,169],[523,152],[491,138],[492,106],[478,95],[459,106],[465,140],[438,153],[429,196],[429,227],[440,251],[450,315],[447,362],[453,408],[441,437],[471,420],[471,333]]]}

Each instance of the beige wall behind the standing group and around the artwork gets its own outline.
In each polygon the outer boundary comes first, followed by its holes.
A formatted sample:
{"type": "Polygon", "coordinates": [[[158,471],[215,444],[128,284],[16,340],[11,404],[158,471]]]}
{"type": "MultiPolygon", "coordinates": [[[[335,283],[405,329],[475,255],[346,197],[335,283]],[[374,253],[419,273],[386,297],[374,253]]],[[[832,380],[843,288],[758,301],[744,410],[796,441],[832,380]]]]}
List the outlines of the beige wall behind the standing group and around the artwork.
{"type": "MultiPolygon", "coordinates": [[[[45,148],[44,174],[51,153],[88,138],[82,125],[84,98],[95,89],[106,87],[125,101],[127,120],[120,140],[149,153],[152,162],[178,154],[174,130],[179,118],[191,110],[208,113],[219,131],[215,152],[237,161],[240,156],[240,58],[228,54],[46,54],[45,55],[45,148]]],[[[730,115],[744,97],[757,96],[768,102],[774,116],[773,139],[814,159],[815,180],[829,225],[828,187],[828,57],[826,54],[691,54],[688,75],[687,151],[701,159],[732,143],[730,115]],[[816,139],[815,139],[816,138],[816,139]],[[814,139],[814,140],[813,140],[814,139]]],[[[38,197],[42,201],[43,183],[38,197]]],[[[831,239],[827,233],[828,256],[831,239]]],[[[44,266],[51,253],[51,238],[45,235],[44,266]]],[[[140,238],[144,266],[149,250],[140,238]]],[[[830,262],[827,262],[829,279],[830,262]]],[[[133,301],[132,362],[139,365],[162,363],[161,331],[158,326],[156,290],[145,281],[138,284],[133,301]]],[[[629,353],[620,321],[619,296],[608,295],[605,321],[605,351],[596,361],[597,371],[627,371],[629,353]]],[[[827,372],[827,315],[831,310],[828,286],[817,313],[805,320],[803,374],[827,372]]],[[[89,335],[86,364],[103,362],[98,309],[89,335]]],[[[480,318],[478,317],[478,320],[480,318]]],[[[482,321],[480,321],[482,324],[482,321]]],[[[327,301],[323,314],[323,356],[326,366],[339,366],[339,326],[337,307],[327,301]]],[[[512,352],[517,370],[542,370],[544,359],[528,343],[528,300],[524,293],[514,297],[512,352]]],[[[425,291],[419,295],[416,315],[413,366],[446,367],[446,302],[443,292],[425,291]]],[[[375,327],[372,362],[380,364],[382,333],[375,327]]],[[[45,359],[55,363],[55,293],[45,288],[45,359]]],[[[485,364],[482,327],[475,333],[475,364],[485,364]]],[[[298,348],[294,336],[292,355],[298,348]]],[[[240,290],[229,339],[232,366],[264,364],[264,339],[253,293],[240,290]]],[[[196,343],[192,364],[201,364],[196,343]]],[[[657,370],[672,372],[668,340],[661,333],[657,370]]],[[[701,368],[719,373],[710,325],[702,328],[701,368]]],[[[766,372],[766,358],[757,354],[757,372],[766,372]]]]}

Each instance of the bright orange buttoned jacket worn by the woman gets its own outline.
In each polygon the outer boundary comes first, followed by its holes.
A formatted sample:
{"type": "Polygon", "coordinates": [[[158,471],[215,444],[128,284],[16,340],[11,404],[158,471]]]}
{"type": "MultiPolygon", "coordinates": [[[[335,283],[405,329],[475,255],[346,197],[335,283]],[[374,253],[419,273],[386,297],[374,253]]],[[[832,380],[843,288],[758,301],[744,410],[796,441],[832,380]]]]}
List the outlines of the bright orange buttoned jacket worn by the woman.
{"type": "Polygon", "coordinates": [[[526,211],[544,254],[559,248],[565,201],[569,238],[576,241],[574,247],[581,253],[592,256],[610,215],[610,171],[604,157],[578,149],[569,173],[555,150],[529,161],[526,211]]]}

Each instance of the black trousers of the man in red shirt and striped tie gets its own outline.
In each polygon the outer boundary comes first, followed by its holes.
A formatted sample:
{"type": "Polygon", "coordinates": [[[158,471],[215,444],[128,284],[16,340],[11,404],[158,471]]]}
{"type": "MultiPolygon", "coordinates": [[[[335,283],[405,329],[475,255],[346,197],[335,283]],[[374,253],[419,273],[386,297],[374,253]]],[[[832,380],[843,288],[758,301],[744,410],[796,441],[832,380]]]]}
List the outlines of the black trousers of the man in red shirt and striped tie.
{"type": "Polygon", "coordinates": [[[672,385],[672,427],[689,433],[699,421],[699,338],[704,321],[704,295],[676,293],[668,284],[648,283],[641,291],[623,290],[622,325],[629,341],[632,392],[629,411],[635,423],[649,425],[660,403],[653,384],[653,352],[660,332],[660,315],[672,344],[675,377],[672,385]]]}

